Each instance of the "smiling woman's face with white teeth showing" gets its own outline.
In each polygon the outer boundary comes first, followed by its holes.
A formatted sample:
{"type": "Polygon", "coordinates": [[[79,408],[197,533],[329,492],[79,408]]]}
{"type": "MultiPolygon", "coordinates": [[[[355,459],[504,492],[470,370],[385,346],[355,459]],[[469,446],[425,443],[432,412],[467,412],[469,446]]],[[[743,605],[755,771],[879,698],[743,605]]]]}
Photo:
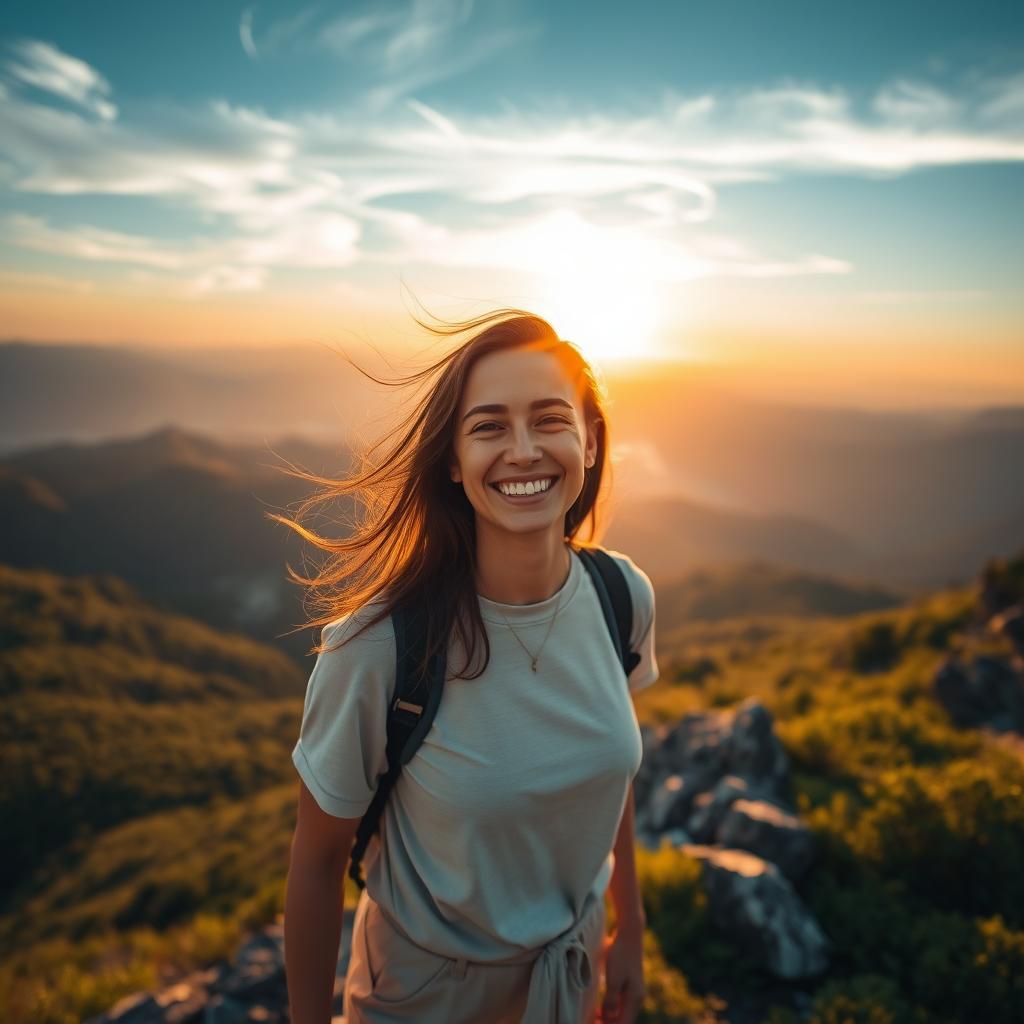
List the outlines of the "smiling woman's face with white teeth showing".
{"type": "Polygon", "coordinates": [[[597,458],[572,381],[550,352],[490,352],[466,380],[452,479],[481,530],[564,532],[565,513],[597,458]]]}

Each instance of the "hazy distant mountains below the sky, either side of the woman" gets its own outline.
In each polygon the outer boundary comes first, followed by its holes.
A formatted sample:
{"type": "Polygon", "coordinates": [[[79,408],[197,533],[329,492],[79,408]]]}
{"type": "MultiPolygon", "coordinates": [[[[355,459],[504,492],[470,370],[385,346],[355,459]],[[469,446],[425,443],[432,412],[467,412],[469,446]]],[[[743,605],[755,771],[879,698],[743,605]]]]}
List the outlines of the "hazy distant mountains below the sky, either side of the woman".
{"type": "MultiPolygon", "coordinates": [[[[965,582],[1020,546],[1024,406],[787,406],[696,369],[634,368],[608,385],[616,486],[604,542],[657,584],[757,559],[909,594],[965,582]]],[[[338,473],[395,399],[311,345],[0,345],[0,560],[116,572],[212,623],[290,628],[301,615],[284,562],[300,553],[263,512],[308,487],[273,468],[273,453],[338,473]]]]}

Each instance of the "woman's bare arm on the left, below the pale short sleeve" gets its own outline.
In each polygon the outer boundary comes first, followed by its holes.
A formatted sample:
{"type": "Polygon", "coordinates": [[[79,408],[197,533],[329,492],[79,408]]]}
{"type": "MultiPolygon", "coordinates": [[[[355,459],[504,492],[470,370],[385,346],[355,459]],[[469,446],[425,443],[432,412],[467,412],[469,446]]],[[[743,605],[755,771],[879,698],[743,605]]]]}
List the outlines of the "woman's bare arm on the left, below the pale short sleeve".
{"type": "Polygon", "coordinates": [[[330,1024],[345,868],[359,818],[323,811],[299,780],[285,890],[285,973],[292,1024],[330,1024]]]}

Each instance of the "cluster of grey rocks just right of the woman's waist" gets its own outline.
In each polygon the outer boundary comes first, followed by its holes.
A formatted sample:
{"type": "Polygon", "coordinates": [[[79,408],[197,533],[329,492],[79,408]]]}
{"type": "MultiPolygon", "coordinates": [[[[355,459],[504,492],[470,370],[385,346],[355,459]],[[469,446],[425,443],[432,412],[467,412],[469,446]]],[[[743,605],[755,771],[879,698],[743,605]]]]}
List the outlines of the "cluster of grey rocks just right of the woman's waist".
{"type": "Polygon", "coordinates": [[[828,940],[794,888],[813,862],[813,837],[792,806],[767,708],[752,697],[641,735],[637,839],[702,862],[712,920],[766,971],[784,979],[824,972],[828,940]]]}

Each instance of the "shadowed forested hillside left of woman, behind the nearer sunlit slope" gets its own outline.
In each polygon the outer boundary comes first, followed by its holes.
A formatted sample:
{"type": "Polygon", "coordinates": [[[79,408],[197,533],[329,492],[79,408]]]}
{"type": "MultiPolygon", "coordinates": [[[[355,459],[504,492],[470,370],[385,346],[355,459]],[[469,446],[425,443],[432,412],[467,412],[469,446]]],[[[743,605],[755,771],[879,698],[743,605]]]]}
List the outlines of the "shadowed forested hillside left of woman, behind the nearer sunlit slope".
{"type": "Polygon", "coordinates": [[[76,837],[291,776],[304,679],[280,651],[158,611],[113,577],[0,567],[0,623],[6,906],[76,837]]]}

